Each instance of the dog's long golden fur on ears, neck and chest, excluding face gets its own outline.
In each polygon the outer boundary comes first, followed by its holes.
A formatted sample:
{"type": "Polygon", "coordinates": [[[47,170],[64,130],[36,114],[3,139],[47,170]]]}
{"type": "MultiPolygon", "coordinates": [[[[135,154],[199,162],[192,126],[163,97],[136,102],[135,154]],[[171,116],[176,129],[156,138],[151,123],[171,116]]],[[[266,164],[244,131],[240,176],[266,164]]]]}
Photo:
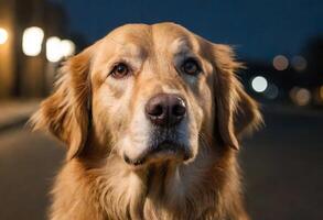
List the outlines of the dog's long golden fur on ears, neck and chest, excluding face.
{"type": "MultiPolygon", "coordinates": [[[[212,84],[214,100],[209,100],[215,121],[214,128],[200,131],[194,161],[151,164],[133,170],[111,153],[111,143],[100,144],[101,133],[96,128],[88,130],[86,103],[94,96],[88,76],[98,46],[67,62],[56,91],[31,119],[34,129],[47,129],[68,146],[52,190],[50,219],[249,219],[243,204],[236,150],[239,136],[257,128],[261,117],[257,103],[235,77],[241,66],[233,51],[218,44],[208,47],[216,75],[212,84]]],[[[107,131],[118,129],[104,127],[107,131]]]]}

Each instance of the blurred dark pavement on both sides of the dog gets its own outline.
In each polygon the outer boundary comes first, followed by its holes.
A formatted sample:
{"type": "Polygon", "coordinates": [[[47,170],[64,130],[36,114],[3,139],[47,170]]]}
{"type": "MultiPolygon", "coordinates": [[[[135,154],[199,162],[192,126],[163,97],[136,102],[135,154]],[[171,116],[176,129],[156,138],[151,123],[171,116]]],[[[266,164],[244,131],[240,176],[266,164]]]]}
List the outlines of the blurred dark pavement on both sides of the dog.
{"type": "MultiPolygon", "coordinates": [[[[240,156],[252,219],[323,219],[323,112],[270,109],[265,120],[240,156]]],[[[19,128],[0,132],[0,220],[45,219],[57,145],[19,128]]]]}

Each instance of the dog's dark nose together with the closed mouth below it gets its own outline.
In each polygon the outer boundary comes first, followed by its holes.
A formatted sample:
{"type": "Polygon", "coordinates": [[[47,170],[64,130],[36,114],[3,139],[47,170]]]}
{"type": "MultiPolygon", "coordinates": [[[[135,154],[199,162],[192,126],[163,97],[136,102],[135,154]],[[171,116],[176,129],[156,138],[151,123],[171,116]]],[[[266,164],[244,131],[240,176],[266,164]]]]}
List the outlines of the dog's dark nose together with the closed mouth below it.
{"type": "Polygon", "coordinates": [[[126,154],[128,164],[138,166],[150,162],[161,161],[187,161],[192,152],[187,143],[181,139],[179,129],[186,117],[186,105],[177,95],[159,94],[146,105],[144,113],[151,123],[148,147],[137,158],[130,158],[126,154]]]}

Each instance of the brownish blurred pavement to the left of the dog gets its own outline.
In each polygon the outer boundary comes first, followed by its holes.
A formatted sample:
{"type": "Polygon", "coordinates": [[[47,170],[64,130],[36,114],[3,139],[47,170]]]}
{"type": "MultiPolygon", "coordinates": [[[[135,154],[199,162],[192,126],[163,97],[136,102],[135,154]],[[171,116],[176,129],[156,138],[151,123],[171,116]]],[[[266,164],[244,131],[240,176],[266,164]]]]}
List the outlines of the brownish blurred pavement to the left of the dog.
{"type": "Polygon", "coordinates": [[[0,133],[0,220],[45,219],[49,191],[63,147],[40,133],[0,133]]]}

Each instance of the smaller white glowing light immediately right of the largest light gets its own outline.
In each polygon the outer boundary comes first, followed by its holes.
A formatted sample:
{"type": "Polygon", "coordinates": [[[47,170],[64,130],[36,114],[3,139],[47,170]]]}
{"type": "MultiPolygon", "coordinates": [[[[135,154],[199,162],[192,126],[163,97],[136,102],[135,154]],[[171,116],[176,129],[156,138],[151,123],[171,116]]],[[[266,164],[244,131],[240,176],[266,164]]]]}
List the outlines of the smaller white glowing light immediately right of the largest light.
{"type": "Polygon", "coordinates": [[[51,36],[46,41],[46,58],[49,62],[58,62],[63,57],[61,38],[51,36]]]}

